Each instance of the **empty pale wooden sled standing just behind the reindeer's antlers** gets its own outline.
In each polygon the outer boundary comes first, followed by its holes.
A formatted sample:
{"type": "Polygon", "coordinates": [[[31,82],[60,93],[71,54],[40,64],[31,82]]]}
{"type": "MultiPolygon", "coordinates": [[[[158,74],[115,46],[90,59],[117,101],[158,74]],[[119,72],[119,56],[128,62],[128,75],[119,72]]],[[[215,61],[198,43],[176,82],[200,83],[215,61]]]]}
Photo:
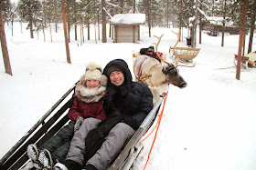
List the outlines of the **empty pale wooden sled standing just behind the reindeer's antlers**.
{"type": "MultiPolygon", "coordinates": [[[[198,55],[200,48],[188,48],[188,47],[175,47],[176,57],[182,63],[190,62],[198,55]]],[[[175,54],[174,47],[169,48],[169,53],[175,54]]]]}

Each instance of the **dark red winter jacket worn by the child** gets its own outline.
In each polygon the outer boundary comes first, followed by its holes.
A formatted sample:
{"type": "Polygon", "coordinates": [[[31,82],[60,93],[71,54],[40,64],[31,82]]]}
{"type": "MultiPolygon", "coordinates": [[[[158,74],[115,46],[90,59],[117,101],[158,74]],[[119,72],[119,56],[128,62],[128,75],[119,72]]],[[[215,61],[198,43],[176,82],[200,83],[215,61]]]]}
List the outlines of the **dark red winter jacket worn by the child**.
{"type": "Polygon", "coordinates": [[[88,117],[94,117],[97,119],[105,119],[106,115],[102,108],[102,98],[99,102],[85,103],[74,95],[74,102],[68,113],[69,119],[76,121],[77,116],[81,116],[84,119],[88,117]]]}

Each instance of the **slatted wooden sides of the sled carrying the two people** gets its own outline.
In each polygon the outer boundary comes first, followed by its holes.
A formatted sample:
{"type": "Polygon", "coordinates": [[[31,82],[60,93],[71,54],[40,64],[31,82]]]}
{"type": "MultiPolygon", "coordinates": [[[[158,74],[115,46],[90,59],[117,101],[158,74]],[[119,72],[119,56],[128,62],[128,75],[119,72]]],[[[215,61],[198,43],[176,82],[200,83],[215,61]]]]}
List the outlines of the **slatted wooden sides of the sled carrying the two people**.
{"type": "MultiPolygon", "coordinates": [[[[0,169],[19,169],[26,166],[29,162],[27,156],[27,145],[43,145],[52,135],[55,135],[59,129],[68,123],[68,110],[73,104],[73,93],[75,85],[72,85],[69,91],[63,95],[59,101],[53,105],[48,112],[43,115],[33,127],[14,145],[0,160],[0,169]]],[[[113,160],[109,169],[129,169],[133,161],[139,154],[138,151],[143,147],[140,139],[154,123],[158,110],[162,105],[163,96],[160,96],[154,108],[146,116],[144,122],[134,133],[127,145],[124,145],[120,155],[113,160]]]]}

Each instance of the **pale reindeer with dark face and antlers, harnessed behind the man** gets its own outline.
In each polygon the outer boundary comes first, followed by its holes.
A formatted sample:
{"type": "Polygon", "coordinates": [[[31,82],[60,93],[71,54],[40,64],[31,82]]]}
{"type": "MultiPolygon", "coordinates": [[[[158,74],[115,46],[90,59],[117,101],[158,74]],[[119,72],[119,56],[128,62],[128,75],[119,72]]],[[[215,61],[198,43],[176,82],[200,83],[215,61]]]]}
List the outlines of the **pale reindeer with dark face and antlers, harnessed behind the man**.
{"type": "MultiPolygon", "coordinates": [[[[162,36],[155,36],[158,39],[155,44],[156,54],[158,54],[157,47],[162,36]]],[[[154,104],[169,84],[176,85],[179,88],[187,86],[187,82],[179,75],[176,62],[174,64],[167,63],[163,58],[161,58],[161,61],[163,64],[147,55],[138,55],[133,63],[135,78],[138,82],[148,85],[153,94],[154,104]]]]}

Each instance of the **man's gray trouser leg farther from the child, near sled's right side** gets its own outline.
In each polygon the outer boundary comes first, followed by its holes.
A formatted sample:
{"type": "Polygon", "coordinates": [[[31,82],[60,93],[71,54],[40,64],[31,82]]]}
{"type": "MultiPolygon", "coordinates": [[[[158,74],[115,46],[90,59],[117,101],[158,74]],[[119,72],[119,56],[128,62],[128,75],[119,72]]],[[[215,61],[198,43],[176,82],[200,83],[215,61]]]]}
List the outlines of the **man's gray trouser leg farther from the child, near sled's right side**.
{"type": "Polygon", "coordinates": [[[123,144],[135,133],[130,125],[119,123],[115,125],[107,135],[106,140],[87,164],[94,165],[98,170],[106,170],[112,159],[122,149],[123,144]]]}

